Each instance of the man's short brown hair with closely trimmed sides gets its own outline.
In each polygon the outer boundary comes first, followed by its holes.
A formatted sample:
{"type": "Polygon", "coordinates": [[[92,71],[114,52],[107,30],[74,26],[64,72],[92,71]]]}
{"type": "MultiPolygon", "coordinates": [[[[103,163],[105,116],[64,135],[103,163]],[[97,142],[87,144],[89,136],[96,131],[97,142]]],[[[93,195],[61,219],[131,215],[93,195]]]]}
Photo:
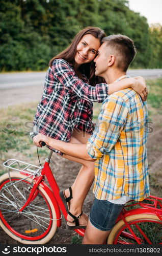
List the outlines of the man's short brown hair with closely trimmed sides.
{"type": "Polygon", "coordinates": [[[134,42],[126,35],[110,35],[102,39],[106,45],[115,51],[117,56],[117,67],[126,72],[130,62],[135,57],[137,50],[134,42]]]}

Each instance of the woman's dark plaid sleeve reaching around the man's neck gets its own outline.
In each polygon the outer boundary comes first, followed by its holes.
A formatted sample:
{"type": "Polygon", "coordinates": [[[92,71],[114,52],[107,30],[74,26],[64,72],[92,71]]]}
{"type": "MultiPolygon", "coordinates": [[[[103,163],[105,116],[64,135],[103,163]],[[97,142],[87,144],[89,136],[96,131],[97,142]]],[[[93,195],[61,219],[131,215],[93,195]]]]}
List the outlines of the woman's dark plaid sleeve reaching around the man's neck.
{"type": "Polygon", "coordinates": [[[90,84],[79,79],[74,69],[63,59],[55,59],[51,68],[53,76],[80,98],[88,101],[103,102],[109,95],[108,84],[99,83],[95,87],[90,86],[90,84]]]}

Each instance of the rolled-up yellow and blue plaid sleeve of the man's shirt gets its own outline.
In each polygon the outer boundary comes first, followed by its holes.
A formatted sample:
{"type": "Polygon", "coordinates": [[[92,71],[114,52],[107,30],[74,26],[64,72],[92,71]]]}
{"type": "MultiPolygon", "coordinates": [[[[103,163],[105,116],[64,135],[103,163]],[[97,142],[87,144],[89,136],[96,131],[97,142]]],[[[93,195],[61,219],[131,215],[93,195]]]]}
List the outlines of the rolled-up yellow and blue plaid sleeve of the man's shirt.
{"type": "Polygon", "coordinates": [[[128,106],[118,95],[109,96],[102,104],[96,129],[87,142],[87,152],[93,159],[109,154],[123,130],[128,106]]]}

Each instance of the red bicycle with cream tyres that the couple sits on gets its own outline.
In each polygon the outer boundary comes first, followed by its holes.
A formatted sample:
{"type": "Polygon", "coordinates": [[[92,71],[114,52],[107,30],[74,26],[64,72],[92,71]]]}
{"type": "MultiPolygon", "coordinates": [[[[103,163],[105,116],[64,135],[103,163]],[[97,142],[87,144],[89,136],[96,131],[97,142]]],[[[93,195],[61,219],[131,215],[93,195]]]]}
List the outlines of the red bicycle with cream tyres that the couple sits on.
{"type": "MultiPolygon", "coordinates": [[[[67,217],[49,166],[52,153],[42,167],[16,159],[4,162],[8,173],[0,177],[0,226],[20,243],[47,243],[61,226],[61,211],[67,217]]],[[[85,229],[75,231],[84,236],[85,229]]],[[[162,244],[162,198],[150,196],[126,205],[107,244],[162,244]]]]}

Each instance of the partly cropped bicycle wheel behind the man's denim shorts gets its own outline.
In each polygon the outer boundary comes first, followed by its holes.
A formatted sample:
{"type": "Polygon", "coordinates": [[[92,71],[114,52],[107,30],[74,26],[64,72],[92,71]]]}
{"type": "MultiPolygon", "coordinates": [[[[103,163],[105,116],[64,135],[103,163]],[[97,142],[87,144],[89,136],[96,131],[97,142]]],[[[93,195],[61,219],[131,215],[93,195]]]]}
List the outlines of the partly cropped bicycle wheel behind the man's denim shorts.
{"type": "MultiPolygon", "coordinates": [[[[162,243],[162,221],[151,214],[139,214],[126,217],[131,229],[141,244],[162,243]]],[[[107,244],[138,244],[123,220],[112,229],[107,244]]]]}

